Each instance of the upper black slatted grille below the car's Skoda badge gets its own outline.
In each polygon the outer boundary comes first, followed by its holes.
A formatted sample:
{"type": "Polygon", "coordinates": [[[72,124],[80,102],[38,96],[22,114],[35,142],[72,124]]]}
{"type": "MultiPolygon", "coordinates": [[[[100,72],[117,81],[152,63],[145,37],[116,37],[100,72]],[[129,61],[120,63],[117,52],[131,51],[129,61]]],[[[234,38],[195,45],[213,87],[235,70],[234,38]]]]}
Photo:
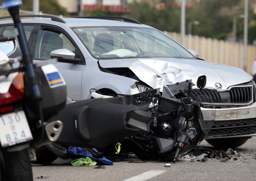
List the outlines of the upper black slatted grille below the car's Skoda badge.
{"type": "Polygon", "coordinates": [[[214,104],[218,105],[246,105],[253,101],[253,87],[233,87],[228,91],[216,91],[214,89],[202,89],[199,93],[199,89],[193,89],[191,91],[192,97],[207,95],[214,104]]]}

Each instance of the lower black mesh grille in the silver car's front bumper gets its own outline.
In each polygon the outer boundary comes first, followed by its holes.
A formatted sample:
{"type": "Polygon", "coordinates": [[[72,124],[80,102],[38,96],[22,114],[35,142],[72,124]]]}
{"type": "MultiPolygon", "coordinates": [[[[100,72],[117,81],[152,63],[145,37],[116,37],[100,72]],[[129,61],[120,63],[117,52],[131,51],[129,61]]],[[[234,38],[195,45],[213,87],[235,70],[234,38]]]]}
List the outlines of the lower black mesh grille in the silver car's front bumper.
{"type": "Polygon", "coordinates": [[[256,132],[256,118],[214,121],[207,137],[244,135],[256,132]]]}

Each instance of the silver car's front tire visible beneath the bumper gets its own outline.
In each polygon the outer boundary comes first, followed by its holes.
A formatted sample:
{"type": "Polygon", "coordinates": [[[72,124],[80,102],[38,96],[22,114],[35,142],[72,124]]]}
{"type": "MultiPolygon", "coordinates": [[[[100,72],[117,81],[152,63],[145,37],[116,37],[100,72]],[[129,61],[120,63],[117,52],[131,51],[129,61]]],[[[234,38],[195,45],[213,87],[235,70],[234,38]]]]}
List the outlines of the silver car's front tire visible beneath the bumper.
{"type": "Polygon", "coordinates": [[[243,145],[248,140],[248,137],[240,138],[217,138],[206,139],[206,141],[216,148],[236,148],[243,145]]]}

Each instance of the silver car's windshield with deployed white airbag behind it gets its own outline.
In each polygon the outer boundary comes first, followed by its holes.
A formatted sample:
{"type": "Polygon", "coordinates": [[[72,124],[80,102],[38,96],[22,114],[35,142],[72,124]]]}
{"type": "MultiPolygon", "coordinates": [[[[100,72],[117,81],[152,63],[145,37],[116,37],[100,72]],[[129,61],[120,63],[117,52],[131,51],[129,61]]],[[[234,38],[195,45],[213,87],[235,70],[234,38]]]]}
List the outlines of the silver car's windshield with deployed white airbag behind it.
{"type": "Polygon", "coordinates": [[[73,27],[98,59],[172,57],[196,59],[184,47],[154,28],[130,26],[73,27]]]}

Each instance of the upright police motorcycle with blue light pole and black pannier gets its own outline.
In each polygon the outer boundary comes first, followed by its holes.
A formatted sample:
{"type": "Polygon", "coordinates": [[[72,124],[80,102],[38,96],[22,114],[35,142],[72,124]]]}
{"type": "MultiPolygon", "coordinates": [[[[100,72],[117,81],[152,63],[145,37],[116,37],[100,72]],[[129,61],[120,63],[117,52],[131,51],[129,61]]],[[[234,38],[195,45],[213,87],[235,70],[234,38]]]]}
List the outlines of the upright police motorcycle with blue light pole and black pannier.
{"type": "Polygon", "coordinates": [[[60,120],[46,120],[66,103],[66,83],[52,64],[33,64],[20,23],[20,0],[2,3],[14,21],[22,57],[8,58],[16,47],[15,37],[0,38],[0,180],[32,181],[31,160],[35,149],[56,141],[60,120]]]}

